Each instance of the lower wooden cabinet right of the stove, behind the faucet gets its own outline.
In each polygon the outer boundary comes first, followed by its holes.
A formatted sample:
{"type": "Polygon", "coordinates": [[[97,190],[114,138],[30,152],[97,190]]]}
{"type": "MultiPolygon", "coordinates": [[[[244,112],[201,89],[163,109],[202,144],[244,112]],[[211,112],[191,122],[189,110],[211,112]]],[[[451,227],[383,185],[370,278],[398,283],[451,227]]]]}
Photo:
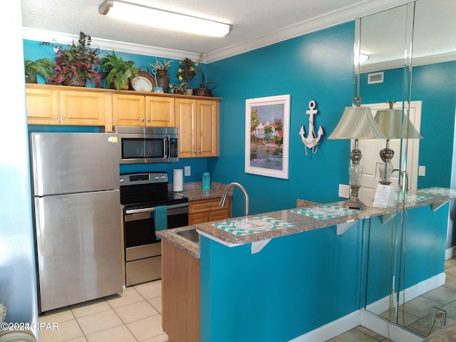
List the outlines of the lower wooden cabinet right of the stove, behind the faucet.
{"type": "Polygon", "coordinates": [[[220,198],[190,201],[188,206],[188,225],[219,221],[231,217],[231,197],[227,197],[225,207],[219,206],[220,198]]]}

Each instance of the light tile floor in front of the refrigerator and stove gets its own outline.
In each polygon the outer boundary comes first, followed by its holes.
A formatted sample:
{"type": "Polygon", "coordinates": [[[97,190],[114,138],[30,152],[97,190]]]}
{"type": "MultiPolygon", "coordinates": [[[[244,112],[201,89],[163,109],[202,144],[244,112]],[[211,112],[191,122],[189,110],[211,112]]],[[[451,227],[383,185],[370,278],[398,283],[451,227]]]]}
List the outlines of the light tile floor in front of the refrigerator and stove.
{"type": "Polygon", "coordinates": [[[162,284],[152,281],[86,303],[48,311],[38,321],[58,323],[39,331],[40,342],[167,342],[162,331],[162,284]]]}

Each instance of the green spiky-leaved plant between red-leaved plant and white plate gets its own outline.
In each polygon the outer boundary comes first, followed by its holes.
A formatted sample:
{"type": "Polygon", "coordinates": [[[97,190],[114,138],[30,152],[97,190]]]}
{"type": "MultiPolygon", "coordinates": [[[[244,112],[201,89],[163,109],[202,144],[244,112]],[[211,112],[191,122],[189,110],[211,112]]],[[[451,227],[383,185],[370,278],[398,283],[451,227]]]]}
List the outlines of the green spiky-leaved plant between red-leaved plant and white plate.
{"type": "Polygon", "coordinates": [[[128,90],[128,81],[138,76],[138,68],[135,68],[134,61],[124,61],[115,52],[105,53],[100,60],[101,78],[105,80],[105,88],[117,90],[128,90]]]}

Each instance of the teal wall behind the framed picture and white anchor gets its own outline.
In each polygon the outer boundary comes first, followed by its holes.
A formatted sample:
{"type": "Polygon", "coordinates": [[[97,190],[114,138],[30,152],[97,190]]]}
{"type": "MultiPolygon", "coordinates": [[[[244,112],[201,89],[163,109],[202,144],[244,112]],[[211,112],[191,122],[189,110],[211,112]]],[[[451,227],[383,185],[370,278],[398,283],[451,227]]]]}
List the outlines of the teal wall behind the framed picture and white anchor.
{"type": "MultiPolygon", "coordinates": [[[[240,182],[249,192],[250,212],[296,207],[296,199],[338,200],[338,184],[348,184],[350,142],[328,140],[351,105],[354,23],[306,34],[272,46],[209,64],[220,103],[220,156],[208,161],[213,179],[240,182]],[[291,95],[289,179],[244,173],[245,100],[291,95]],[[316,100],[316,128],[325,135],[318,152],[305,154],[299,136],[309,130],[309,101],[316,100]]],[[[234,216],[242,215],[243,199],[234,191],[234,216]]]]}

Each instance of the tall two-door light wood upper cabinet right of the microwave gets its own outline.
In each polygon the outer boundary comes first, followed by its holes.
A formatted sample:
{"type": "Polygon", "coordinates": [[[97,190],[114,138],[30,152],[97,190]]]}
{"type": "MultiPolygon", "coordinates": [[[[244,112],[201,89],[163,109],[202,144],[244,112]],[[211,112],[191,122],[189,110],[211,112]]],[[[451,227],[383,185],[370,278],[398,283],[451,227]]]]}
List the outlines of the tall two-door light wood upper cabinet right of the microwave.
{"type": "Polygon", "coordinates": [[[219,100],[176,98],[179,157],[219,155],[219,100]]]}

